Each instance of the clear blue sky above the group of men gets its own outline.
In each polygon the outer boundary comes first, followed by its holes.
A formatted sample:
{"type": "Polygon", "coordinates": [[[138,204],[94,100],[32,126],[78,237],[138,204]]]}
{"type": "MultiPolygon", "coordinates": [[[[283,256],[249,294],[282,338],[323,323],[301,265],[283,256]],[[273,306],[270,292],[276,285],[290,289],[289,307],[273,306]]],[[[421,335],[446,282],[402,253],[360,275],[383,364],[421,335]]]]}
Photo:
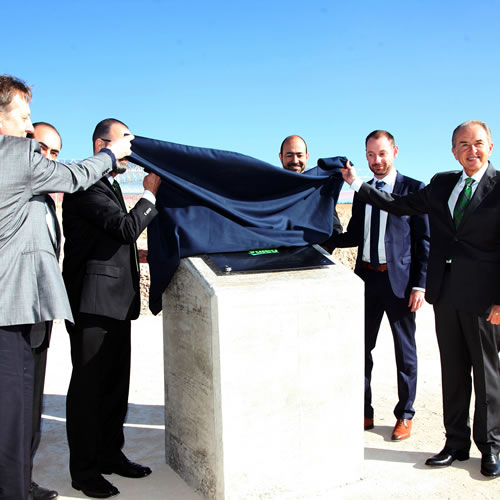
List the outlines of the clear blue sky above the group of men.
{"type": "Polygon", "coordinates": [[[343,155],[366,174],[364,138],[384,128],[397,168],[428,182],[459,168],[456,125],[500,134],[499,19],[496,0],[4,2],[1,72],[33,85],[32,118],[59,129],[62,158],[90,155],[115,117],[276,165],[299,134],[309,166],[343,155]]]}

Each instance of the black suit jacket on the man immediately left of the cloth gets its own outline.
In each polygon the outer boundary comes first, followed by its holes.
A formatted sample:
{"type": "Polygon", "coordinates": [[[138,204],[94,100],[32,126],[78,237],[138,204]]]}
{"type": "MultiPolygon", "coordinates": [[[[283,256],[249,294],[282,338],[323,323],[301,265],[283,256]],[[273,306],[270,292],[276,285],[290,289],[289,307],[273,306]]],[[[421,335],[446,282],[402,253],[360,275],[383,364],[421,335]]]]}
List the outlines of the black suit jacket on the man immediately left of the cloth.
{"type": "Polygon", "coordinates": [[[135,242],[157,213],[145,198],[125,212],[106,178],[64,197],[63,277],[75,318],[78,313],[118,320],[139,316],[135,242]]]}

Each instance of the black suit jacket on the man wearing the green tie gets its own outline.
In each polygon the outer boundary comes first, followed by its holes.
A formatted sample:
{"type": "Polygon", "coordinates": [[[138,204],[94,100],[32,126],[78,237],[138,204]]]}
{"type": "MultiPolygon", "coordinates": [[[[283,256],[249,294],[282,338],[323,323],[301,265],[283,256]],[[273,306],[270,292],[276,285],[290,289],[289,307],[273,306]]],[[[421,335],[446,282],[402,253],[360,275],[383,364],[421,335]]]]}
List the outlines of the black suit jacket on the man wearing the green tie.
{"type": "Polygon", "coordinates": [[[398,198],[363,184],[361,200],[398,214],[428,214],[430,254],[426,300],[440,296],[446,261],[451,259],[453,305],[484,314],[500,304],[500,174],[488,164],[457,229],[448,207],[462,172],[435,175],[421,191],[398,198]]]}

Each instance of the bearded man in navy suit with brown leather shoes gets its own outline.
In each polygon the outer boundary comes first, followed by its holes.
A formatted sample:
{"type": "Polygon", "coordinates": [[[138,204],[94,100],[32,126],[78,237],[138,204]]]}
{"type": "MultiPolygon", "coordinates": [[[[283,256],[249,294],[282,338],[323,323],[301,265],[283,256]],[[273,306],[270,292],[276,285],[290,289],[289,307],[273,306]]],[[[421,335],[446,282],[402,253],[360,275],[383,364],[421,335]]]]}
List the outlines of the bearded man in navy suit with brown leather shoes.
{"type": "MultiPolygon", "coordinates": [[[[398,146],[385,130],[371,132],[365,141],[366,159],[373,172],[370,181],[378,189],[404,195],[424,184],[401,175],[394,168],[398,146]]],[[[358,247],[355,273],[365,282],[365,404],[364,428],[374,426],[371,374],[372,350],[380,323],[387,314],[394,337],[399,400],[394,408],[396,424],[392,440],[411,435],[417,391],[417,347],[415,312],[424,302],[429,257],[429,224],[426,216],[397,217],[363,203],[356,194],[347,231],[332,235],[323,245],[358,247]]]]}

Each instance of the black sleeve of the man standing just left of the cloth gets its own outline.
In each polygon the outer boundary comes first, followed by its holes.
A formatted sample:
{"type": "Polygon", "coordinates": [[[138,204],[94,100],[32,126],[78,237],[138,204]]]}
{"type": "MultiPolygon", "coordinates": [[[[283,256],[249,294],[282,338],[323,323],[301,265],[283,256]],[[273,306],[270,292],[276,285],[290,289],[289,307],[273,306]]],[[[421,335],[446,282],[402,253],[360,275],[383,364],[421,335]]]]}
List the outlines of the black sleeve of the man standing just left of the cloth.
{"type": "Polygon", "coordinates": [[[127,213],[100,185],[75,193],[70,198],[65,210],[78,211],[78,216],[121,243],[135,242],[158,214],[154,204],[145,198],[141,198],[127,213]]]}

